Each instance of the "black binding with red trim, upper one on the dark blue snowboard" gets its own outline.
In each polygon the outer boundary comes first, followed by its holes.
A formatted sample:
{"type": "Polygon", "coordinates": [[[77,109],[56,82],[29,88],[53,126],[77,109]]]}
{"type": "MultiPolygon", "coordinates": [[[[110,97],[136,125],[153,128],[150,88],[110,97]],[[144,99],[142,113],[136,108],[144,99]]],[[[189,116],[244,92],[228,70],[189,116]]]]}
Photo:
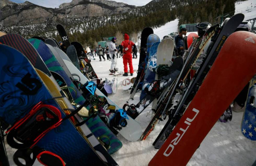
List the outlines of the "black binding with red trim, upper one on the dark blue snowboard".
{"type": "Polygon", "coordinates": [[[7,143],[15,149],[33,147],[48,131],[59,126],[61,121],[59,109],[39,102],[6,132],[7,143]]]}

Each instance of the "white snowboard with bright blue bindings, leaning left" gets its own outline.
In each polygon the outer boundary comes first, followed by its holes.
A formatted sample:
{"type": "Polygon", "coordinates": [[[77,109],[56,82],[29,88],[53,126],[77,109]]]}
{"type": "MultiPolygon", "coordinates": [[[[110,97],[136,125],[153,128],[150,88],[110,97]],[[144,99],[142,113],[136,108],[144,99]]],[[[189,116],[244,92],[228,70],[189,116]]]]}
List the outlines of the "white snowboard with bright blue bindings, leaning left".
{"type": "MultiPolygon", "coordinates": [[[[88,81],[88,79],[80,72],[79,70],[77,70],[74,65],[72,65],[71,62],[63,60],[65,62],[65,64],[67,65],[68,69],[70,70],[71,73],[75,73],[78,74],[79,77],[81,78],[81,82],[83,83],[84,81],[88,81]]],[[[96,88],[95,91],[96,95],[98,96],[103,96],[107,99],[108,104],[110,105],[114,105],[115,109],[118,110],[120,109],[118,107],[118,105],[116,105],[115,103],[113,103],[109,98],[107,98],[106,96],[104,96],[104,94],[98,90],[96,88]]],[[[131,117],[128,116],[129,119],[126,119],[127,121],[127,126],[126,127],[122,127],[121,130],[118,130],[118,132],[127,140],[129,141],[137,141],[142,133],[142,129],[141,126],[139,125],[138,122],[136,122],[135,120],[133,120],[131,117]]]]}

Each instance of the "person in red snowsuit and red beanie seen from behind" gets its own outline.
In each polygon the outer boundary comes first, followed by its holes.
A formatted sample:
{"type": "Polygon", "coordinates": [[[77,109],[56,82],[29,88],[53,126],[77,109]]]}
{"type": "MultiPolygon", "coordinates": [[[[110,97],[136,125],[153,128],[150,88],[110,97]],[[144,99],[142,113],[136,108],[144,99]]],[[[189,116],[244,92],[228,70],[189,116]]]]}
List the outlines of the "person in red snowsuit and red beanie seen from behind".
{"type": "Polygon", "coordinates": [[[133,67],[132,67],[132,46],[136,47],[136,45],[129,40],[129,35],[124,34],[124,41],[122,41],[121,45],[123,46],[123,64],[124,64],[124,74],[123,76],[128,76],[128,67],[129,64],[130,74],[133,75],[133,67]]]}

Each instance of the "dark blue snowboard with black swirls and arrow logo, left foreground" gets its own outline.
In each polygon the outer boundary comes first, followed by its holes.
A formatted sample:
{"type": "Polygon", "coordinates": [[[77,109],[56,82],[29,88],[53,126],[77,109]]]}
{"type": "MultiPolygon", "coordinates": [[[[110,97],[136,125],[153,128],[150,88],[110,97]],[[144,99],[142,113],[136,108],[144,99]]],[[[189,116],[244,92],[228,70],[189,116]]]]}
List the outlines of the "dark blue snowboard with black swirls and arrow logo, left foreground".
{"type": "MultiPolygon", "coordinates": [[[[0,65],[3,69],[0,74],[1,89],[4,90],[1,97],[10,92],[13,96],[5,100],[1,107],[2,120],[13,125],[41,101],[44,104],[55,106],[60,110],[61,117],[65,117],[66,115],[57,102],[51,99],[53,97],[28,59],[21,52],[9,46],[0,45],[0,48],[0,65]]],[[[62,121],[58,127],[47,132],[36,143],[36,146],[59,155],[66,165],[105,165],[69,120],[62,121]]]]}

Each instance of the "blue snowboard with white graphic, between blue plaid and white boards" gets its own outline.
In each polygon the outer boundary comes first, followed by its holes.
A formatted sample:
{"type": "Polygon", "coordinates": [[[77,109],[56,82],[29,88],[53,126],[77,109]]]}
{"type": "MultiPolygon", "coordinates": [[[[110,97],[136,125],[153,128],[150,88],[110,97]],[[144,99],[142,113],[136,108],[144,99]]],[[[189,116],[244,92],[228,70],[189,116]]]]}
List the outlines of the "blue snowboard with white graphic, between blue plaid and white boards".
{"type": "MultiPolygon", "coordinates": [[[[149,59],[147,64],[147,69],[145,72],[145,78],[143,82],[143,86],[145,84],[150,84],[152,81],[155,80],[155,72],[153,72],[153,68],[156,67],[156,52],[160,41],[156,41],[152,44],[149,50],[149,59]]],[[[142,87],[141,90],[141,96],[139,97],[139,100],[142,100],[146,96],[146,93],[144,92],[144,88],[142,87]]]]}

